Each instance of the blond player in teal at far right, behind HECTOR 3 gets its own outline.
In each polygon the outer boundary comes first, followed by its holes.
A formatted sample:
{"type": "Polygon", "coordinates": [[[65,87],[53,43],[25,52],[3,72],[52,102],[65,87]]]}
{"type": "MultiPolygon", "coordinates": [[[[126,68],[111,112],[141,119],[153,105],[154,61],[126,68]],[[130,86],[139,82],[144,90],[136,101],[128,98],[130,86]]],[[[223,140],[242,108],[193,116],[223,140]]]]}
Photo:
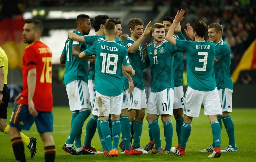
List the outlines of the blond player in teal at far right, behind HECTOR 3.
{"type": "MultiPolygon", "coordinates": [[[[221,152],[237,152],[234,123],[230,116],[230,112],[232,112],[233,93],[233,81],[230,76],[230,48],[221,38],[223,28],[219,23],[211,23],[208,25],[208,28],[209,41],[215,43],[214,73],[222,107],[222,115],[218,116],[218,121],[220,123],[220,129],[222,128],[221,120],[223,121],[229,138],[229,146],[221,150],[221,152]]],[[[213,141],[210,147],[200,150],[200,152],[214,151],[214,144],[213,141]]]]}

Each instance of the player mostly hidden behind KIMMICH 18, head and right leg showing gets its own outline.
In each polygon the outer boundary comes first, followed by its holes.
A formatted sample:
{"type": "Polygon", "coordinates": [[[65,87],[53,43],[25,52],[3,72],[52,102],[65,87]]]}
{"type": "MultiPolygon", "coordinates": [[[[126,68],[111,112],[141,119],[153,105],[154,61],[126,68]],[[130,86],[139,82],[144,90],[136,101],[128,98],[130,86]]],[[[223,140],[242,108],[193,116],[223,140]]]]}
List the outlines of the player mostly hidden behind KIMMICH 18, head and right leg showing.
{"type": "MultiPolygon", "coordinates": [[[[121,27],[121,21],[120,20],[116,20],[116,19],[109,19],[108,22],[112,22],[116,25],[116,38],[120,38],[120,36],[122,35],[122,27],[121,27]]],[[[130,145],[130,140],[131,140],[131,136],[130,136],[130,132],[129,132],[129,117],[128,117],[128,108],[130,106],[129,102],[128,102],[128,98],[127,98],[127,94],[131,93],[134,89],[134,84],[132,81],[132,77],[130,74],[128,74],[125,71],[125,68],[123,67],[122,69],[123,72],[123,81],[128,81],[129,87],[127,87],[127,92],[125,87],[123,88],[123,104],[122,104],[122,111],[120,114],[120,121],[121,121],[121,132],[122,132],[122,141],[123,144],[122,145],[122,151],[121,154],[124,155],[139,155],[142,154],[142,151],[137,151],[134,150],[131,145],[130,145]]]]}

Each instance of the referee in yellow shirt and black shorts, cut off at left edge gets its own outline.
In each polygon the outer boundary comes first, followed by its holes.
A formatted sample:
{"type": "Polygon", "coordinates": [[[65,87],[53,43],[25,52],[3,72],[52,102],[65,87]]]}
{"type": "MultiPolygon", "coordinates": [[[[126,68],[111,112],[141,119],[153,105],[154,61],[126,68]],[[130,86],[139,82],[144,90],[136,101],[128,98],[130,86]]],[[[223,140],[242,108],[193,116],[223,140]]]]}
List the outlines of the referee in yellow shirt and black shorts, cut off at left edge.
{"type": "MultiPolygon", "coordinates": [[[[8,134],[9,125],[6,124],[7,107],[10,99],[10,90],[7,87],[7,74],[8,74],[8,58],[4,50],[0,47],[0,131],[8,134]]],[[[15,100],[16,101],[16,100],[15,100]]],[[[37,151],[36,138],[29,138],[23,133],[20,133],[21,139],[26,143],[30,157],[34,157],[37,151]]]]}

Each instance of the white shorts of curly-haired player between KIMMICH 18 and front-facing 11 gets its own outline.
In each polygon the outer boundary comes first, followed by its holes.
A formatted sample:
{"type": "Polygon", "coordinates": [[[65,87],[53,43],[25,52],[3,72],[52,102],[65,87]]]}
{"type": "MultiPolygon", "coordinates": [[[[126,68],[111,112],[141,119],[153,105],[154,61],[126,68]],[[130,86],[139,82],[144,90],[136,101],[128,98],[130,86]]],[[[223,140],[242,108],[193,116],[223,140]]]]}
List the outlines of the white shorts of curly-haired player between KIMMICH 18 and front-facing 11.
{"type": "Polygon", "coordinates": [[[128,93],[128,102],[130,104],[130,109],[145,109],[147,107],[147,100],[146,100],[146,92],[145,89],[140,90],[137,87],[134,87],[131,93],[128,93]]]}

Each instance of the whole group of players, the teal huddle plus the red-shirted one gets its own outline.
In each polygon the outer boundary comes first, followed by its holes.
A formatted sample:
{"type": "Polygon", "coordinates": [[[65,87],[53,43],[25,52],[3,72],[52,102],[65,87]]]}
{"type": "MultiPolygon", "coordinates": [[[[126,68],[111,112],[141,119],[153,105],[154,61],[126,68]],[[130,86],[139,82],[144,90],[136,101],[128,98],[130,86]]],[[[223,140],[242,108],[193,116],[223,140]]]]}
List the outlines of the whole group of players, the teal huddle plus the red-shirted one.
{"type": "MultiPolygon", "coordinates": [[[[64,151],[73,155],[113,157],[119,155],[120,146],[124,155],[185,155],[192,118],[199,117],[201,104],[211,123],[213,144],[200,152],[212,152],[208,157],[220,157],[221,152],[237,151],[230,116],[233,92],[230,50],[221,39],[222,26],[218,23],[207,26],[202,21],[196,21],[193,27],[187,24],[185,32],[192,39],[187,41],[180,26],[184,13],[185,10],[178,10],[174,19],[166,17],[163,23],[152,27],[149,22],[144,31],[143,21],[132,18],[128,22],[129,37],[122,36],[121,22],[109,19],[107,15],[96,16],[92,22],[96,34],[86,36],[92,28],[90,17],[85,14],[77,16],[77,31],[68,33],[69,38],[60,57],[60,62],[66,66],[64,82],[72,111],[71,131],[63,145],[64,151]],[[142,49],[141,43],[151,30],[153,41],[142,49]],[[209,41],[204,40],[207,31],[209,41]],[[186,53],[187,60],[188,89],[185,97],[182,52],[186,53]],[[148,67],[151,69],[152,87],[146,102],[142,72],[148,67]],[[82,145],[82,127],[91,107],[93,115],[86,125],[82,145]],[[145,108],[149,143],[141,147],[145,108]],[[176,120],[177,147],[172,147],[172,114],[176,120]],[[165,148],[161,145],[159,115],[164,126],[165,148]],[[220,149],[222,121],[229,137],[229,146],[223,150],[220,149]],[[102,152],[91,146],[96,128],[102,152]],[[121,132],[122,143],[119,145],[121,132]]],[[[52,53],[39,40],[41,33],[40,21],[26,21],[23,38],[29,46],[23,56],[23,91],[18,96],[8,130],[19,161],[26,161],[20,130],[28,130],[34,121],[44,143],[45,161],[54,161],[55,158],[51,135],[52,53]]]]}

